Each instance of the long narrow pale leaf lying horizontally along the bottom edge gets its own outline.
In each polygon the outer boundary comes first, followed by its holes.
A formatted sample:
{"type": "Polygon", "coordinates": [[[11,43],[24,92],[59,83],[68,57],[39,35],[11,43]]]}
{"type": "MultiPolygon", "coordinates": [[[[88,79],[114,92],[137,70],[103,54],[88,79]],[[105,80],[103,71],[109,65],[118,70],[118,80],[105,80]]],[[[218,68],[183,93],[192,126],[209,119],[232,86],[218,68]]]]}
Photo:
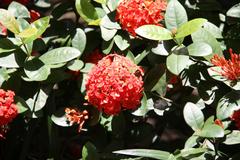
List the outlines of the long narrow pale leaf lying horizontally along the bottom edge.
{"type": "Polygon", "coordinates": [[[116,154],[124,154],[130,156],[138,156],[138,157],[147,157],[158,160],[167,160],[171,154],[166,151],[153,150],[153,149],[126,149],[114,151],[116,154]]]}

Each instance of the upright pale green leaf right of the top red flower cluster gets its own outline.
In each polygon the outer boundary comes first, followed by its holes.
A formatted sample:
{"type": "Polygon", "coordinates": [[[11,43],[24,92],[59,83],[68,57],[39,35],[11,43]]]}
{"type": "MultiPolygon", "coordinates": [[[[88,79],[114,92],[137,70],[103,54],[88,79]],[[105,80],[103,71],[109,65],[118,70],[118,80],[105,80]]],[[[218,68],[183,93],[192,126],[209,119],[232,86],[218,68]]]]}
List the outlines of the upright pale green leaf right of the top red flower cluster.
{"type": "Polygon", "coordinates": [[[166,9],[165,23],[167,29],[173,31],[188,21],[184,7],[177,0],[171,0],[166,9]]]}

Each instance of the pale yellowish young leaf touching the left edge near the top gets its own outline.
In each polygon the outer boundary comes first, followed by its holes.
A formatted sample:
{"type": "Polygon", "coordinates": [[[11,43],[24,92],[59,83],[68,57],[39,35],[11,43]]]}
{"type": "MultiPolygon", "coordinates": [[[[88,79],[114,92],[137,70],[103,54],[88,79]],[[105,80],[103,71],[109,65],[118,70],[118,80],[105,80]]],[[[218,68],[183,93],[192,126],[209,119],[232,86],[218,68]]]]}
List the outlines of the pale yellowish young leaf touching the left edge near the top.
{"type": "Polygon", "coordinates": [[[5,9],[0,9],[0,22],[4,25],[9,31],[17,34],[19,33],[19,24],[15,17],[5,9]]]}

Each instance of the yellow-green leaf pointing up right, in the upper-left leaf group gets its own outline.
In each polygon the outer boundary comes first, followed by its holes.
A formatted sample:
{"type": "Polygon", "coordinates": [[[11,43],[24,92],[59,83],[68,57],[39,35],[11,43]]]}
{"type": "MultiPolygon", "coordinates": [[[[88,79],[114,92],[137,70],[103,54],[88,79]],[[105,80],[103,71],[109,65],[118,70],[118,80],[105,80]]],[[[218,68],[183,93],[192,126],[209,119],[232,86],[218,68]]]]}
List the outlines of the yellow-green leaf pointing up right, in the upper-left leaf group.
{"type": "Polygon", "coordinates": [[[30,37],[24,38],[23,42],[26,44],[39,38],[47,29],[49,25],[49,21],[50,21],[50,17],[47,16],[47,17],[40,18],[34,21],[33,23],[31,23],[31,26],[29,28],[35,28],[37,29],[37,32],[35,32],[30,37]]]}

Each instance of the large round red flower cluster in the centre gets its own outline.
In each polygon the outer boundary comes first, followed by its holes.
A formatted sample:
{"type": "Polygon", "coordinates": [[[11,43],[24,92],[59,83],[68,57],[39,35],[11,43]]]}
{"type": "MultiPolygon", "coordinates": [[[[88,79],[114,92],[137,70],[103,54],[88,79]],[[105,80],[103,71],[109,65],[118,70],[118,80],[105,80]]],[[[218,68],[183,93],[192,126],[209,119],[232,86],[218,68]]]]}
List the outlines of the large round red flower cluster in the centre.
{"type": "Polygon", "coordinates": [[[131,60],[110,54],[88,74],[87,99],[108,115],[139,106],[143,91],[143,70],[131,60]]]}

